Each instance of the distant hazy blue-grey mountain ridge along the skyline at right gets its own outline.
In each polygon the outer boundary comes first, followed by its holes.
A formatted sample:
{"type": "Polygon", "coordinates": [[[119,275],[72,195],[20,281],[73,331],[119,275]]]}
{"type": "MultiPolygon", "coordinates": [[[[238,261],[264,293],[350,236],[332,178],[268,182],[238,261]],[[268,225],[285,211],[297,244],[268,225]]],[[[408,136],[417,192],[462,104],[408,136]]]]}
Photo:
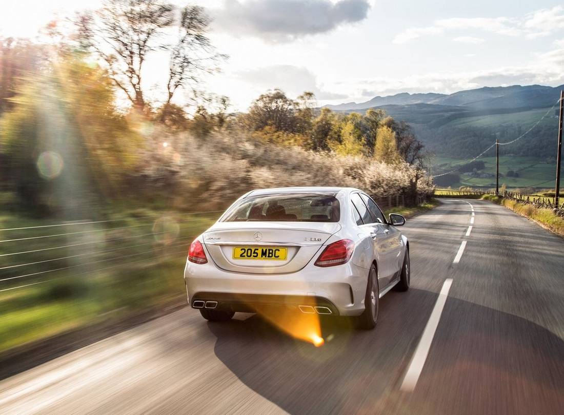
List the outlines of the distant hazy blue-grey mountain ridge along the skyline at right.
{"type": "Polygon", "coordinates": [[[363,103],[345,103],[325,105],[335,111],[358,111],[382,105],[413,105],[435,104],[452,107],[463,107],[477,110],[499,110],[515,108],[545,108],[552,106],[559,98],[564,85],[550,87],[543,85],[513,85],[498,87],[483,87],[453,94],[401,94],[389,96],[375,96],[363,103]]]}

